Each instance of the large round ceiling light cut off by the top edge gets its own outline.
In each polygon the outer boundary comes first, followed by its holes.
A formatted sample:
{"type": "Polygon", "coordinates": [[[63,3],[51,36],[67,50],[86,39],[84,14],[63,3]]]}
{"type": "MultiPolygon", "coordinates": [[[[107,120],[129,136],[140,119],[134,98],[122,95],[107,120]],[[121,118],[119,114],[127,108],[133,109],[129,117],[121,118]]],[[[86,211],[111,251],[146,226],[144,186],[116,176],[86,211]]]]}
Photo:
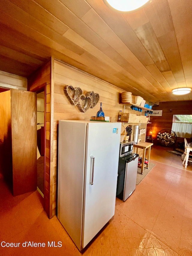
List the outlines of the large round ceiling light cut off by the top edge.
{"type": "Polygon", "coordinates": [[[152,0],[103,0],[108,7],[122,12],[136,11],[143,8],[152,0]]]}

